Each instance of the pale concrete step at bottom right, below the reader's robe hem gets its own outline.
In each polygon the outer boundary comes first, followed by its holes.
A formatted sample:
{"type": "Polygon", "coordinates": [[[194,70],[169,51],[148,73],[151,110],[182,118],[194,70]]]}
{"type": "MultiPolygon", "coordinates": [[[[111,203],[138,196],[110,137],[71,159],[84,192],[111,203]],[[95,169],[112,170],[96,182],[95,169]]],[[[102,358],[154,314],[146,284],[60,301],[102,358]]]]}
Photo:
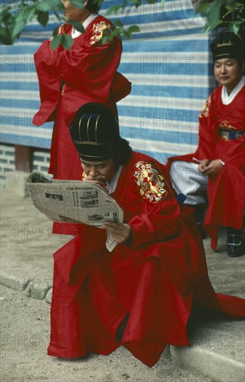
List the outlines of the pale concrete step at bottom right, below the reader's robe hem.
{"type": "Polygon", "coordinates": [[[215,382],[245,381],[244,320],[192,325],[189,347],[170,347],[171,359],[215,382]]]}

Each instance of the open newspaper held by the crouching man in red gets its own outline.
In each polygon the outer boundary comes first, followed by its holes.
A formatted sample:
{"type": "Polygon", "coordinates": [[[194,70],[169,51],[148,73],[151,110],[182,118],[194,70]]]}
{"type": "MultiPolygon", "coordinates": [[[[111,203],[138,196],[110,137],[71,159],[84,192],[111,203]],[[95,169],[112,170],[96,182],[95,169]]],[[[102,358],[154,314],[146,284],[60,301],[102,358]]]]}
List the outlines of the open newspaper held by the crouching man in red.
{"type": "MultiPolygon", "coordinates": [[[[96,227],[101,227],[104,222],[123,222],[124,211],[100,185],[51,180],[37,171],[29,174],[26,184],[35,208],[53,222],[96,227]]],[[[108,233],[105,243],[108,251],[116,245],[108,233]]]]}

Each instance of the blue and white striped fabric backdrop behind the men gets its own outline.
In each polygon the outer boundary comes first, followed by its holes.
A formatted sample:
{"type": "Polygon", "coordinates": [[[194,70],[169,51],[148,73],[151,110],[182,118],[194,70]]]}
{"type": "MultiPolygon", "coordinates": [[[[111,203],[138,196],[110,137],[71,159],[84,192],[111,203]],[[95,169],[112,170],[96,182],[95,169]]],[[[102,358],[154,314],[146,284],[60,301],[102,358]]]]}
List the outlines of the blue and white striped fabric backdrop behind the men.
{"type": "MultiPolygon", "coordinates": [[[[101,14],[116,3],[105,1],[101,14]]],[[[215,87],[210,37],[201,33],[205,19],[194,17],[190,0],[143,3],[121,19],[140,26],[123,41],[119,72],[132,82],[132,92],[118,103],[121,135],[163,163],[194,151],[198,113],[215,87]]],[[[48,28],[33,23],[15,45],[1,46],[1,142],[50,147],[52,123],[31,123],[40,105],[33,53],[55,25],[53,17],[48,28]]]]}

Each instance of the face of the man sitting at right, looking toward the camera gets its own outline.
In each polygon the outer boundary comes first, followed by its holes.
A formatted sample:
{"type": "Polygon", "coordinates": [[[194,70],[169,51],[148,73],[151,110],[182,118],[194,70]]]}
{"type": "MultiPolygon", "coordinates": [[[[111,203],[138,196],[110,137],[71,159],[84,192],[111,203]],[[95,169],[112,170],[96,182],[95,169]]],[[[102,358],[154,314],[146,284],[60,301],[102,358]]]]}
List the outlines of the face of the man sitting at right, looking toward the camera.
{"type": "Polygon", "coordinates": [[[226,86],[228,92],[239,83],[243,70],[234,58],[221,58],[214,62],[214,76],[221,85],[226,86]]]}

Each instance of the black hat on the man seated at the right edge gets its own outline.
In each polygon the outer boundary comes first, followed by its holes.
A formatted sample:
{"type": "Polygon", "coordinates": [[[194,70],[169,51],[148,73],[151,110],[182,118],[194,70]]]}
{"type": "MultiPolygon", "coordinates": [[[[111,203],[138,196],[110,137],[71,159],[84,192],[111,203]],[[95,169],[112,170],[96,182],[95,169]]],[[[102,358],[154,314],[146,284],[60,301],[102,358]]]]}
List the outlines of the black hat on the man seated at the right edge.
{"type": "Polygon", "coordinates": [[[244,41],[240,35],[232,31],[222,31],[210,45],[213,60],[221,58],[234,58],[235,60],[244,60],[244,41]]]}

